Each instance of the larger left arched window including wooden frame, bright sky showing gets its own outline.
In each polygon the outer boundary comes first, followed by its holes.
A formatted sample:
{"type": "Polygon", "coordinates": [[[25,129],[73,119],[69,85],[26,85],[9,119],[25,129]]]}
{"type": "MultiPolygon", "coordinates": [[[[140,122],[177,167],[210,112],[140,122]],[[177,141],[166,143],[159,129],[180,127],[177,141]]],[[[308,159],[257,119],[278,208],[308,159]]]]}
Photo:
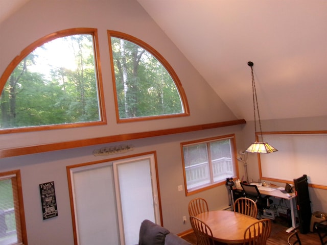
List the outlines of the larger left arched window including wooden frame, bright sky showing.
{"type": "Polygon", "coordinates": [[[97,46],[96,29],[76,28],[25,48],[0,78],[2,132],[104,124],[97,46]]]}

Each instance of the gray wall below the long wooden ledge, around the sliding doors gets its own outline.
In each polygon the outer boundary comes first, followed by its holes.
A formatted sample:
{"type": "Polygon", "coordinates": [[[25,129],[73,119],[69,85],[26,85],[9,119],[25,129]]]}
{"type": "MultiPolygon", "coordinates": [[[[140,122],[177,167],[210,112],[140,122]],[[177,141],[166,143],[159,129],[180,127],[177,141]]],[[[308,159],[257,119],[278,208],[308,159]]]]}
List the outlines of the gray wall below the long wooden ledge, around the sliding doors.
{"type": "Polygon", "coordinates": [[[191,199],[203,197],[208,201],[209,208],[214,210],[228,206],[228,196],[225,185],[189,197],[185,197],[184,191],[178,191],[178,185],[182,185],[184,190],[180,142],[230,133],[236,133],[239,138],[240,126],[5,158],[0,161],[0,169],[21,171],[29,244],[73,244],[66,166],[156,151],[162,220],[171,232],[181,233],[191,229],[189,222],[184,225],[182,219],[183,216],[188,217],[188,203],[191,199]],[[121,143],[132,144],[133,151],[109,157],[92,155],[94,150],[121,143]],[[38,185],[49,181],[55,182],[58,216],[42,220],[38,185]]]}

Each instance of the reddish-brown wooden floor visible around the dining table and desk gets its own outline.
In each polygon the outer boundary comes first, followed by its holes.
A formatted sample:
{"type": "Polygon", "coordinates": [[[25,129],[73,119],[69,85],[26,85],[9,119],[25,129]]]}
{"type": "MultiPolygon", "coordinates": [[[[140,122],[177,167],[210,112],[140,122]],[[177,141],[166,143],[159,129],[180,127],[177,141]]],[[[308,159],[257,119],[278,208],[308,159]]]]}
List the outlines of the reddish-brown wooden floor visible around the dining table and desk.
{"type": "MultiPolygon", "coordinates": [[[[284,219],[276,218],[275,222],[272,223],[271,234],[267,240],[266,245],[286,245],[287,237],[290,233],[286,232],[288,224],[284,219]]],[[[309,232],[307,234],[298,233],[302,245],[321,245],[318,234],[309,232]]],[[[183,236],[185,240],[189,241],[192,244],[196,244],[196,237],[194,233],[183,236]]]]}

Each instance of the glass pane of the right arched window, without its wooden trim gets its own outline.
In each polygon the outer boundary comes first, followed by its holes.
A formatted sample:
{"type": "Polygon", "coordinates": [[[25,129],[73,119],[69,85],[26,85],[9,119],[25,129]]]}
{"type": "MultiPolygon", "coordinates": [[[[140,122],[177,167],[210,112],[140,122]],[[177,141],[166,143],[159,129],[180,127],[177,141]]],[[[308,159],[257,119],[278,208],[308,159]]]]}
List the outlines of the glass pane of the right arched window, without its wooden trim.
{"type": "Polygon", "coordinates": [[[116,37],[111,48],[120,119],[184,112],[173,79],[153,55],[116,37]]]}

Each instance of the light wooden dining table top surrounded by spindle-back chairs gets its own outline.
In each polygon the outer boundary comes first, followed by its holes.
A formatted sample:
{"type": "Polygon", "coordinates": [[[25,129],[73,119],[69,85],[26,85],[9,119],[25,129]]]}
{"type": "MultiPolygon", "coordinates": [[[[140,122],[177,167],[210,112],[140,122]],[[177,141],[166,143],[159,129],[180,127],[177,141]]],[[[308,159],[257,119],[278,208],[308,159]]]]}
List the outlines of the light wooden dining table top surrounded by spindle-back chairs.
{"type": "Polygon", "coordinates": [[[206,223],[215,240],[226,243],[242,243],[245,229],[258,219],[227,210],[200,213],[196,216],[206,223]]]}

